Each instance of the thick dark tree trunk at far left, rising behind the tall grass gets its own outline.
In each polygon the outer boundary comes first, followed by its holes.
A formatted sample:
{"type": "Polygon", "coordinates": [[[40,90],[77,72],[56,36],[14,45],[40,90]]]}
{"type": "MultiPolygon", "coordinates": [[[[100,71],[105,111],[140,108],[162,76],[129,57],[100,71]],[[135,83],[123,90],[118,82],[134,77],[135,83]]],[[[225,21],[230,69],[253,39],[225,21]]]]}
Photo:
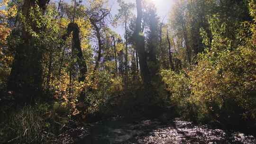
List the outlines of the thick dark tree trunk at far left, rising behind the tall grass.
{"type": "MultiPolygon", "coordinates": [[[[30,8],[37,4],[42,14],[45,13],[46,4],[49,0],[24,0],[22,15],[35,32],[43,29],[37,27],[30,16],[30,8]]],[[[40,96],[42,92],[42,59],[44,45],[35,45],[34,37],[22,27],[22,42],[15,48],[12,69],[8,80],[8,90],[11,91],[17,100],[33,102],[35,96],[40,96]],[[21,97],[24,96],[24,97],[21,97]]]]}

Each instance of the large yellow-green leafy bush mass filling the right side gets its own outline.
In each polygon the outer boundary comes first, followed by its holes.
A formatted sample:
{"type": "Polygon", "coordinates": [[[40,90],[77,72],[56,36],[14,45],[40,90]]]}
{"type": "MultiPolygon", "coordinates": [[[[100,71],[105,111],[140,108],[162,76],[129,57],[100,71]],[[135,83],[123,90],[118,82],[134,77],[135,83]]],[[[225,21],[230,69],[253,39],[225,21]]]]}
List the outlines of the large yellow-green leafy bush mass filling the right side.
{"type": "Polygon", "coordinates": [[[256,122],[256,47],[251,39],[255,26],[244,23],[237,40],[230,40],[218,16],[209,24],[212,39],[201,29],[206,50],[198,55],[192,71],[162,72],[170,100],[189,118],[252,126],[256,122]]]}

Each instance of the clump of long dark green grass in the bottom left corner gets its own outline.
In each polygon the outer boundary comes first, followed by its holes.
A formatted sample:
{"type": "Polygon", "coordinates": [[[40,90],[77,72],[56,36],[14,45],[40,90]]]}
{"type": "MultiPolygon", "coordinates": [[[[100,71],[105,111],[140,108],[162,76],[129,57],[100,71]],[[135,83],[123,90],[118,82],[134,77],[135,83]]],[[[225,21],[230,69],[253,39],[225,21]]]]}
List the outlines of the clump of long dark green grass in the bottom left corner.
{"type": "Polygon", "coordinates": [[[47,103],[25,106],[21,109],[1,107],[0,143],[49,144],[57,139],[69,118],[63,117],[66,111],[47,103]]]}

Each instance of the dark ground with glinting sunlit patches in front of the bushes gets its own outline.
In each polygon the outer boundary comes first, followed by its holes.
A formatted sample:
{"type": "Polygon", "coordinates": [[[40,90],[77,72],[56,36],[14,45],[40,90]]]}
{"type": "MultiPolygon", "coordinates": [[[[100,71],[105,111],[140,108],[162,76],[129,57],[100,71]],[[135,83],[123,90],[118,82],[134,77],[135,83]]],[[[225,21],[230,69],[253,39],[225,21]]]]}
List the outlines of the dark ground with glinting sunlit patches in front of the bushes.
{"type": "Polygon", "coordinates": [[[111,118],[73,129],[60,136],[62,144],[256,144],[253,135],[213,129],[175,118],[127,121],[111,118]]]}

